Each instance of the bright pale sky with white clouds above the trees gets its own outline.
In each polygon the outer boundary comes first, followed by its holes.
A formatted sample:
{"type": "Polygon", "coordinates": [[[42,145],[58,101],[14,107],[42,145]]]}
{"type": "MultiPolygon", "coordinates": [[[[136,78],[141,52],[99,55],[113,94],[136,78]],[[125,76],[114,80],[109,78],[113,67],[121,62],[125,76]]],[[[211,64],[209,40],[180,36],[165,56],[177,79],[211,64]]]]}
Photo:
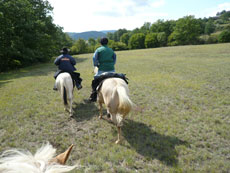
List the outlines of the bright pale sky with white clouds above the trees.
{"type": "Polygon", "coordinates": [[[64,32],[140,28],[145,22],[215,16],[230,0],[48,0],[54,23],[64,32]]]}

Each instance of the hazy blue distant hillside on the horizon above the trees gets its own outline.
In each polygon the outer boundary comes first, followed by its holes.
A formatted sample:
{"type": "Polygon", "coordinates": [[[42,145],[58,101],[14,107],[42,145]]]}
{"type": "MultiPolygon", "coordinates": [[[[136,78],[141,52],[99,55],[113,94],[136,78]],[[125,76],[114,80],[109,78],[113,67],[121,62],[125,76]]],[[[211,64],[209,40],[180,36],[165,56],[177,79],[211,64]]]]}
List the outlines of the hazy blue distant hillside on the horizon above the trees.
{"type": "Polygon", "coordinates": [[[88,40],[89,38],[100,38],[105,37],[108,32],[115,32],[116,30],[104,30],[104,31],[87,31],[87,32],[67,32],[67,34],[74,40],[78,40],[79,38],[88,40]]]}

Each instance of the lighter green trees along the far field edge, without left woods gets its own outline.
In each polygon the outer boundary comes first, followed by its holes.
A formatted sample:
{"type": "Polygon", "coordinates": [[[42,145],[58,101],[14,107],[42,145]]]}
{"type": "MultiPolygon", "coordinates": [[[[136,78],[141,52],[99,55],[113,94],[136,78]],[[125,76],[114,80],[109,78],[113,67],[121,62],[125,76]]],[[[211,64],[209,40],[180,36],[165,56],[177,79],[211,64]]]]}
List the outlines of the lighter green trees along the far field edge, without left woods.
{"type": "MultiPolygon", "coordinates": [[[[107,33],[109,46],[114,50],[144,49],[163,46],[196,45],[230,42],[230,11],[218,12],[215,17],[185,16],[178,20],[146,22],[134,30],[119,29],[107,33]]],[[[93,52],[99,40],[90,38],[74,42],[73,54],[93,52]]]]}

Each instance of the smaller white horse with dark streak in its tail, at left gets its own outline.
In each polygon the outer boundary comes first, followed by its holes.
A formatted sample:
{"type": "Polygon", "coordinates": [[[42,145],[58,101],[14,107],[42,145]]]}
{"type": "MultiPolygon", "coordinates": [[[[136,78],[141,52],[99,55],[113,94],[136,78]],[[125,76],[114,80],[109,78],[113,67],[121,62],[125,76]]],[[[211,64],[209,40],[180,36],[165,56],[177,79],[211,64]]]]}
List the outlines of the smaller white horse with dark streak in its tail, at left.
{"type": "Polygon", "coordinates": [[[58,91],[61,93],[65,111],[69,111],[70,116],[73,115],[73,80],[69,73],[61,73],[56,78],[56,86],[58,91]]]}

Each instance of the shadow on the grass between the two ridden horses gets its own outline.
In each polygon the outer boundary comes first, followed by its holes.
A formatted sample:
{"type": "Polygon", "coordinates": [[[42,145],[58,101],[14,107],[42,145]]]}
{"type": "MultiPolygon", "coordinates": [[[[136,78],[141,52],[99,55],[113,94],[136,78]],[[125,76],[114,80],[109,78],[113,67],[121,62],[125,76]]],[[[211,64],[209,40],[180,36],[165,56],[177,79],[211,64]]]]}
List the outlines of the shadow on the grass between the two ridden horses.
{"type": "Polygon", "coordinates": [[[79,104],[73,103],[73,111],[73,118],[77,122],[90,120],[98,114],[97,106],[94,103],[86,103],[85,101],[79,104]]]}

